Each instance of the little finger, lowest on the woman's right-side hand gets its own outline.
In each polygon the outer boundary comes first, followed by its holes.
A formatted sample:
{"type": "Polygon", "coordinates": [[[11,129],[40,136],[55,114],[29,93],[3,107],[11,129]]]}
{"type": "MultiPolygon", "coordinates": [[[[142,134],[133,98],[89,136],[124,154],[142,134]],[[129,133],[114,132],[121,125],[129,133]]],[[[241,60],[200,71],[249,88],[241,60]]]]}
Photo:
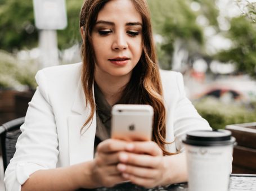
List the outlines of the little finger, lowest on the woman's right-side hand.
{"type": "Polygon", "coordinates": [[[157,184],[155,183],[154,179],[146,179],[146,178],[141,178],[139,176],[134,176],[131,174],[122,174],[123,178],[131,180],[133,184],[140,185],[141,187],[145,188],[153,188],[156,187],[157,184]]]}

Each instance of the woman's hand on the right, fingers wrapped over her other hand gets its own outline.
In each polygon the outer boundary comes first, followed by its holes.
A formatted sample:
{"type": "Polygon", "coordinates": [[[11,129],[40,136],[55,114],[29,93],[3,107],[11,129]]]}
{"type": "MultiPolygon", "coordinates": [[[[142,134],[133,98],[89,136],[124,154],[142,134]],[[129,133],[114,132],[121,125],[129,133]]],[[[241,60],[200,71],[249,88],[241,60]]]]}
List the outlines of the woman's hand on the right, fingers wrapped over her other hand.
{"type": "Polygon", "coordinates": [[[167,184],[167,162],[155,142],[131,142],[126,151],[119,153],[117,166],[125,179],[145,188],[167,184]]]}

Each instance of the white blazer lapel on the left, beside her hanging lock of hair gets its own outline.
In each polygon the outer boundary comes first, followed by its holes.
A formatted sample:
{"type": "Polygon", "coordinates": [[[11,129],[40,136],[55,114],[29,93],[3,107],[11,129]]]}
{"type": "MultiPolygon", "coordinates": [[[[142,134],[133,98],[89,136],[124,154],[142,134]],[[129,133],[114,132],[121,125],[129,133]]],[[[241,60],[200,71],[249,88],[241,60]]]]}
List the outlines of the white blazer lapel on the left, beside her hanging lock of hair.
{"type": "Polygon", "coordinates": [[[74,165],[93,159],[96,133],[96,113],[93,115],[92,121],[84,126],[81,131],[84,122],[86,122],[91,112],[91,107],[86,107],[86,99],[80,80],[71,111],[72,114],[68,117],[69,163],[74,165]]]}

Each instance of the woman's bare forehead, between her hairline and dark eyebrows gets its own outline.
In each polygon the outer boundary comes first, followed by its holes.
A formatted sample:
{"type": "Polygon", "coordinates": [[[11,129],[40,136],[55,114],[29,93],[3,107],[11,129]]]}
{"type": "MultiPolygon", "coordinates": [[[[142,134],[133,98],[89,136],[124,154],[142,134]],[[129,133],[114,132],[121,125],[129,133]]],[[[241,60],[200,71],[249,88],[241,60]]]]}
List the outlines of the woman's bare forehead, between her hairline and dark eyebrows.
{"type": "Polygon", "coordinates": [[[98,12],[97,20],[142,22],[131,0],[111,0],[98,12]]]}

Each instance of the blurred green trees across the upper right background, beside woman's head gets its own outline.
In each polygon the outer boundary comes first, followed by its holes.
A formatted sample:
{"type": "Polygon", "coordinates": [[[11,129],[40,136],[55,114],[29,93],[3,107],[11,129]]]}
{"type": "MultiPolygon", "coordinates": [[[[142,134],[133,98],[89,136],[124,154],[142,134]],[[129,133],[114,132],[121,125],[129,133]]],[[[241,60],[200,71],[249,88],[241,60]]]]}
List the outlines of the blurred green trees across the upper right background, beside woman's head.
{"type": "Polygon", "coordinates": [[[181,47],[185,47],[189,53],[188,60],[199,56],[206,60],[233,62],[237,66],[237,72],[250,74],[256,78],[256,26],[253,23],[256,21],[256,3],[247,2],[248,13],[245,14],[247,17],[233,17],[230,20],[230,30],[221,31],[218,24],[219,10],[216,2],[215,0],[148,0],[155,33],[160,34],[164,39],[163,43],[157,44],[161,67],[172,69],[174,42],[178,39],[179,42],[182,42],[181,47]],[[200,4],[199,10],[191,10],[193,2],[200,4]],[[211,26],[217,34],[232,40],[233,46],[227,51],[222,50],[215,55],[206,53],[204,27],[196,22],[199,16],[205,17],[209,22],[208,26],[211,26]]]}

